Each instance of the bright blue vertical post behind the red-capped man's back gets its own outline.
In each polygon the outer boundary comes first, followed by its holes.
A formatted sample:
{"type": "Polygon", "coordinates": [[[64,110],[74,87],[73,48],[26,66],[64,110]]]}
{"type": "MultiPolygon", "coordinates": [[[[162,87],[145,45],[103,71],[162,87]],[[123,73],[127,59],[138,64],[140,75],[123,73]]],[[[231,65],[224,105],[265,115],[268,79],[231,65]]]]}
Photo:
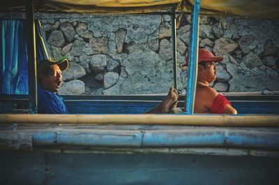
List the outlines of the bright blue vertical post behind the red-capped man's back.
{"type": "Polygon", "coordinates": [[[199,45],[199,0],[195,0],[191,15],[190,51],[188,61],[188,87],[186,94],[186,112],[194,113],[195,91],[197,86],[197,59],[199,45]]]}

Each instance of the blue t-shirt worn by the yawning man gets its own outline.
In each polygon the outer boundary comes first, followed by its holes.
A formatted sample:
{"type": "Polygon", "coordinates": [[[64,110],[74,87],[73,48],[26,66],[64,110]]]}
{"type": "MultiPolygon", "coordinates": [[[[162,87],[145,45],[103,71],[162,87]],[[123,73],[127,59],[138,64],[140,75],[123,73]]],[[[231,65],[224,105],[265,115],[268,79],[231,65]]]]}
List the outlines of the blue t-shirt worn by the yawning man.
{"type": "Polygon", "coordinates": [[[69,114],[64,99],[51,91],[38,88],[39,114],[69,114]]]}

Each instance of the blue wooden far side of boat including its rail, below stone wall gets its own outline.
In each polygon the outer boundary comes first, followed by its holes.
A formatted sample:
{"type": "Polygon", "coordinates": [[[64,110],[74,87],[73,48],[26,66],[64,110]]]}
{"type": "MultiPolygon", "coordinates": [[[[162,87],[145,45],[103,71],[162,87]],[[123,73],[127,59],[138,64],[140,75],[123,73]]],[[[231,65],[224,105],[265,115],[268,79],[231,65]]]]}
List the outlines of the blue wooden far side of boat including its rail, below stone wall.
{"type": "MultiPolygon", "coordinates": [[[[165,96],[63,96],[73,114],[142,114],[154,108],[165,96]],[[117,101],[116,101],[117,100],[117,101]]],[[[184,106],[184,96],[179,96],[179,107],[184,106]]],[[[227,96],[239,114],[279,114],[278,95],[227,96]]],[[[1,96],[0,111],[6,113],[16,108],[27,108],[27,96],[1,96]],[[6,106],[7,105],[7,106],[6,106]]],[[[14,113],[20,113],[13,110],[14,113]]],[[[21,112],[24,113],[24,112],[21,112]]]]}

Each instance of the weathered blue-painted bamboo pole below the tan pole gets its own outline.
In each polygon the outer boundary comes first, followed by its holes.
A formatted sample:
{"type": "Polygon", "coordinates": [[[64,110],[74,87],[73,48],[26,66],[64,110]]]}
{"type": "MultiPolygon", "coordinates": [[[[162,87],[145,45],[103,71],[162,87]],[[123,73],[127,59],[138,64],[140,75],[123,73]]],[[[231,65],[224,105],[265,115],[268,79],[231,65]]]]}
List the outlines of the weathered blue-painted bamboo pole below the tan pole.
{"type": "Polygon", "coordinates": [[[216,128],[191,126],[48,126],[0,131],[1,149],[37,147],[227,147],[279,149],[278,128],[216,128]],[[13,135],[17,137],[12,137],[13,135]],[[25,138],[27,142],[24,142],[25,138]],[[29,143],[29,145],[27,145],[29,143]],[[15,145],[16,144],[16,145],[15,145]],[[13,146],[17,147],[13,147],[13,146]]]}

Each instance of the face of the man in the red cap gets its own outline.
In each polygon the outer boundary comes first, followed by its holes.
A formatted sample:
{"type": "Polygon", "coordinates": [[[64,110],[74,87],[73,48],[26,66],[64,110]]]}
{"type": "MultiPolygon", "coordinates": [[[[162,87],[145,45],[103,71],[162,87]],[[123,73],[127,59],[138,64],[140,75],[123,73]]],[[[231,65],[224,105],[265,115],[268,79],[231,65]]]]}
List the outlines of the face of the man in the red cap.
{"type": "Polygon", "coordinates": [[[216,80],[217,77],[217,66],[214,61],[207,61],[206,68],[202,67],[199,75],[202,75],[202,78],[207,82],[211,83],[216,80]]]}

